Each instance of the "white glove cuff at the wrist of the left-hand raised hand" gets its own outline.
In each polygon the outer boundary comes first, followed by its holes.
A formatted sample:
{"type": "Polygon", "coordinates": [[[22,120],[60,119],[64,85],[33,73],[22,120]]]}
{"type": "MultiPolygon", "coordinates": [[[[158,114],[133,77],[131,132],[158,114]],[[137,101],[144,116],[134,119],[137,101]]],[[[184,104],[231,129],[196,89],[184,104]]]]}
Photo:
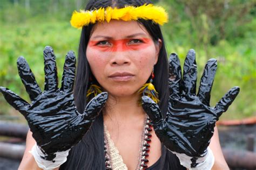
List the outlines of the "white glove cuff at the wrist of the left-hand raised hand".
{"type": "Polygon", "coordinates": [[[70,149],[67,151],[56,152],[56,157],[53,160],[45,160],[44,158],[46,157],[46,154],[42,152],[42,150],[37,146],[37,144],[35,144],[31,148],[31,151],[29,151],[29,153],[33,155],[39,168],[52,170],[64,164],[69,155],[69,151],[70,149]]]}

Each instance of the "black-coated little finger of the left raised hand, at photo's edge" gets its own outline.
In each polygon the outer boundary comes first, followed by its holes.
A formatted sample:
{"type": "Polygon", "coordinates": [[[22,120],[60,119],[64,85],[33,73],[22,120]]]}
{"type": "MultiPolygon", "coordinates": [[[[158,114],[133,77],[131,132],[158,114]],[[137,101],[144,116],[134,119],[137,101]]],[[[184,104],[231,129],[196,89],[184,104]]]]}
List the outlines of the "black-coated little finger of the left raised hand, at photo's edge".
{"type": "MultiPolygon", "coordinates": [[[[5,87],[0,87],[1,93],[4,95],[5,100],[16,110],[24,115],[24,108],[29,105],[28,102],[16,95],[14,92],[5,87]]],[[[24,115],[25,116],[25,115],[24,115]]]]}

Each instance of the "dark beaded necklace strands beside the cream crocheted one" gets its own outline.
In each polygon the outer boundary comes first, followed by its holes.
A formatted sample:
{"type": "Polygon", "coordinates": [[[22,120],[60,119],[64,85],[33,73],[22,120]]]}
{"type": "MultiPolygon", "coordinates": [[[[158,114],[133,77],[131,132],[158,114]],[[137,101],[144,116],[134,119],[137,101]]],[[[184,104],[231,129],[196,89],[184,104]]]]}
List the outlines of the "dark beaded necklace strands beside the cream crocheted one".
{"type": "MultiPolygon", "coordinates": [[[[150,142],[151,142],[151,136],[152,134],[150,133],[152,131],[152,123],[150,121],[150,118],[146,115],[146,119],[145,119],[145,124],[144,124],[144,130],[143,130],[143,134],[142,134],[142,138],[143,140],[141,141],[140,144],[140,153],[139,153],[139,164],[137,166],[137,169],[139,170],[143,170],[147,168],[147,162],[149,162],[149,160],[147,159],[147,157],[149,157],[149,152],[150,152],[150,142]]],[[[106,141],[104,140],[104,153],[105,153],[105,168],[107,170],[111,170],[111,158],[109,153],[107,152],[107,147],[106,147],[106,141]]]]}

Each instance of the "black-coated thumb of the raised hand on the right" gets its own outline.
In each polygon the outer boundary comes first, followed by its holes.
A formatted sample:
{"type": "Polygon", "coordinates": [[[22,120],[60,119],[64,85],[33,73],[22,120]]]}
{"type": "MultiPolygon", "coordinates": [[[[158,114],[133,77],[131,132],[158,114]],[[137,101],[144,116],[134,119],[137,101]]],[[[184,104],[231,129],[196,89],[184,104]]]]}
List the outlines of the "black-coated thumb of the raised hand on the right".
{"type": "Polygon", "coordinates": [[[150,97],[142,96],[142,107],[153,123],[157,123],[161,120],[161,111],[150,97]]]}

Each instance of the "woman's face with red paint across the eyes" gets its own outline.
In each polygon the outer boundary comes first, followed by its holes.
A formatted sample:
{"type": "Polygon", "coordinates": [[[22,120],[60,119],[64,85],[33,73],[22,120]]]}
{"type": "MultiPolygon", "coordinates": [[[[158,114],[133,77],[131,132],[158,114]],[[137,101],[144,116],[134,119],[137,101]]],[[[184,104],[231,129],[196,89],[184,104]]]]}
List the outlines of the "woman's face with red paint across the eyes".
{"type": "Polygon", "coordinates": [[[137,95],[157,63],[159,43],[136,21],[98,23],[86,50],[92,74],[110,95],[137,95]]]}

